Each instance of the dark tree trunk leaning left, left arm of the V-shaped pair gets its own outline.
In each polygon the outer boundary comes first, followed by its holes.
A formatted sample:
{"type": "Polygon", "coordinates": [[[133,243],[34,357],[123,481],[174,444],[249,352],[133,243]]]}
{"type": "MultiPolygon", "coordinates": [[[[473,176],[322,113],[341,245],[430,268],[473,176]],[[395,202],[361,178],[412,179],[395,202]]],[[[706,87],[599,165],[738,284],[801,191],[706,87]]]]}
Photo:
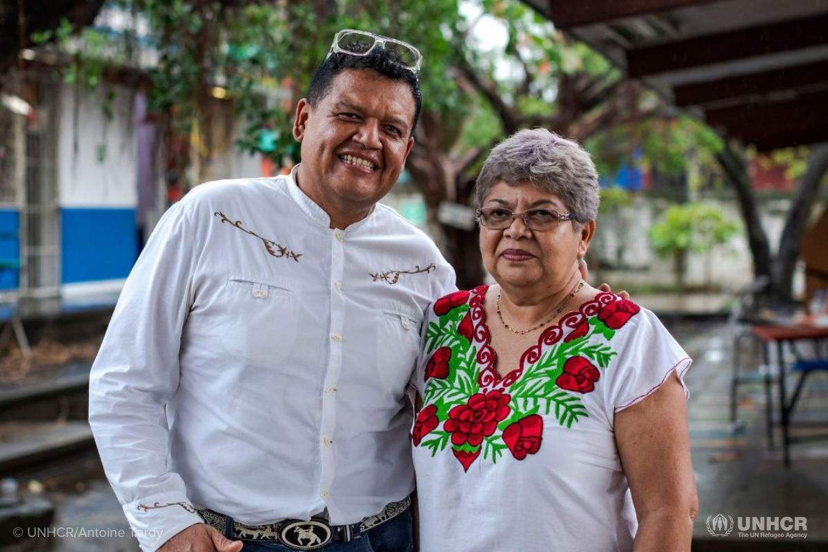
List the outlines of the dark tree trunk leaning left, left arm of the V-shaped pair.
{"type": "Polygon", "coordinates": [[[771,277],[772,261],[768,235],[762,227],[759,210],[756,204],[756,194],[753,193],[753,183],[748,174],[748,166],[738,152],[724,143],[724,149],[716,156],[729,184],[736,191],[739,199],[739,210],[742,213],[745,229],[748,233],[748,245],[753,257],[753,276],[771,277]]]}

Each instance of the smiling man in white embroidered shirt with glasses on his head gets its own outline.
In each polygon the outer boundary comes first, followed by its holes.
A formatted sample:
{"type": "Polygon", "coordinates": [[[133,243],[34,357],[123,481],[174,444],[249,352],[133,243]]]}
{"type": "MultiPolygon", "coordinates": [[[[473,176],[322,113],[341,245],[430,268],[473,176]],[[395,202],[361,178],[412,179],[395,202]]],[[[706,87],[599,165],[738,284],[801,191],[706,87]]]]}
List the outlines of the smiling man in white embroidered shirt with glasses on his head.
{"type": "Polygon", "coordinates": [[[413,145],[419,64],[340,31],[296,108],[301,164],[199,186],[138,259],[89,421],[146,552],[411,549],[407,382],[423,311],[455,290],[377,204],[413,145]]]}

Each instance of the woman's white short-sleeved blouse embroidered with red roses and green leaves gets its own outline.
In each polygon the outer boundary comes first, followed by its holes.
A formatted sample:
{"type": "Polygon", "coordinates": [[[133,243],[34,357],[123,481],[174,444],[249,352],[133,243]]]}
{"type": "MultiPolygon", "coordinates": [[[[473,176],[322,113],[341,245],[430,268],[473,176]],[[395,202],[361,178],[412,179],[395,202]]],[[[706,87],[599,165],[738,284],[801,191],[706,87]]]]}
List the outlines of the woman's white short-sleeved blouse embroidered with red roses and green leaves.
{"type": "Polygon", "coordinates": [[[421,552],[632,550],[614,413],[673,372],[681,380],[691,359],[652,312],[602,293],[500,377],[487,289],[437,300],[423,326],[412,429],[421,552]]]}

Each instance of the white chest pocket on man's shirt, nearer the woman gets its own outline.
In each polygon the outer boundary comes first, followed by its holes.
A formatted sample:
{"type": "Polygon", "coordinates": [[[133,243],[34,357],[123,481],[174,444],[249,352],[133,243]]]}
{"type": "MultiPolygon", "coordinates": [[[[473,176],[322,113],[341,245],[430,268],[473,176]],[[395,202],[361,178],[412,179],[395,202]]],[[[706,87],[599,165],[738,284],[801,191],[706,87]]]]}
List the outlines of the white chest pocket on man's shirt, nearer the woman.
{"type": "Polygon", "coordinates": [[[377,324],[377,371],[394,396],[405,393],[420,351],[422,314],[399,305],[385,305],[377,324]]]}

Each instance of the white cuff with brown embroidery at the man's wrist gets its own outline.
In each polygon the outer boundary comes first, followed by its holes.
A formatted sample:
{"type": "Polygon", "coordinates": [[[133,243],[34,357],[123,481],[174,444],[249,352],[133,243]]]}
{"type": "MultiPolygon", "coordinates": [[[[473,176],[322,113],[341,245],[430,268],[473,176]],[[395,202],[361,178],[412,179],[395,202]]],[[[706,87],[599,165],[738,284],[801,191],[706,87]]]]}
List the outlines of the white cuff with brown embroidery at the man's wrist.
{"type": "Polygon", "coordinates": [[[167,540],[196,523],[204,523],[187,497],[165,492],[123,505],[132,536],[144,552],[156,552],[167,540]]]}

